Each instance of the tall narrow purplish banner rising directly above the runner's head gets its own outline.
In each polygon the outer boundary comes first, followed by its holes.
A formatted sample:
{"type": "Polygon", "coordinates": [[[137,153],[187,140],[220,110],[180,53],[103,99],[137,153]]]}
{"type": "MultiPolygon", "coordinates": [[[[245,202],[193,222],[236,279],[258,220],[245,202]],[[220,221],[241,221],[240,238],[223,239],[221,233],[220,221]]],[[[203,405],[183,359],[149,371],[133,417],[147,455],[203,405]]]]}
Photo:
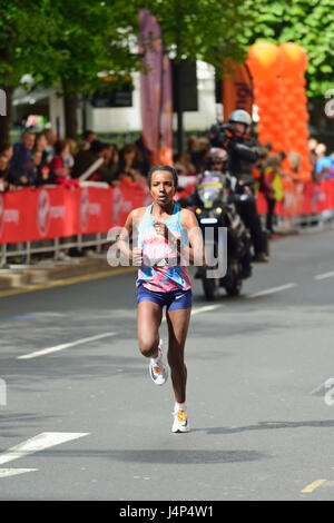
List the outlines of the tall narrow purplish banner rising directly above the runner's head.
{"type": "Polygon", "coordinates": [[[140,73],[143,140],[154,165],[159,149],[163,42],[160,26],[146,9],[139,9],[139,52],[146,69],[140,73]]]}

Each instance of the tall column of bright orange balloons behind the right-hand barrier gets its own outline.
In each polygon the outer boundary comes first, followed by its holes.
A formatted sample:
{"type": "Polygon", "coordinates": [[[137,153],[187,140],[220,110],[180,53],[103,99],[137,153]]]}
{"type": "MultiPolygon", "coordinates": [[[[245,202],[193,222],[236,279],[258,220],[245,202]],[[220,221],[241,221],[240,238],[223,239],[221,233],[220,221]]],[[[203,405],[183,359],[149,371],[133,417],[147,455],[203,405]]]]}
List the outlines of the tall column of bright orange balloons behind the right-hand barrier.
{"type": "MultiPolygon", "coordinates": [[[[258,107],[259,144],[271,142],[273,152],[285,152],[283,170],[292,179],[310,180],[308,114],[304,78],[307,68],[306,52],[294,42],[281,46],[257,42],[248,50],[247,66],[254,81],[254,101],[258,107]],[[298,169],[289,160],[292,152],[295,158],[299,158],[298,169]]],[[[292,180],[284,185],[292,185],[292,180]]]]}

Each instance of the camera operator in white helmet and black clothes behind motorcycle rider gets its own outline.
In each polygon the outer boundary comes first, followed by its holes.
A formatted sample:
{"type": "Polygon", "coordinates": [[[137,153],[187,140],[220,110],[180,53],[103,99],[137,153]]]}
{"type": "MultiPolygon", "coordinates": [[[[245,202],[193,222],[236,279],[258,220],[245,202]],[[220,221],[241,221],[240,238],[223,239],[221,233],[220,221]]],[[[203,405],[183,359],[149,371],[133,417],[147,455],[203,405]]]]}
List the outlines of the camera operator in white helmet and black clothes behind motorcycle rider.
{"type": "Polygon", "coordinates": [[[228,171],[239,184],[236,193],[243,193],[243,184],[250,188],[252,197],[239,199],[238,213],[249,229],[254,246],[254,262],[269,262],[266,254],[266,238],[261,227],[254,197],[253,167],[258,158],[258,148],[254,140],[246,138],[252,126],[252,118],[243,109],[229,115],[228,125],[215,125],[210,128],[210,140],[215,147],[223,147],[228,154],[228,171]]]}

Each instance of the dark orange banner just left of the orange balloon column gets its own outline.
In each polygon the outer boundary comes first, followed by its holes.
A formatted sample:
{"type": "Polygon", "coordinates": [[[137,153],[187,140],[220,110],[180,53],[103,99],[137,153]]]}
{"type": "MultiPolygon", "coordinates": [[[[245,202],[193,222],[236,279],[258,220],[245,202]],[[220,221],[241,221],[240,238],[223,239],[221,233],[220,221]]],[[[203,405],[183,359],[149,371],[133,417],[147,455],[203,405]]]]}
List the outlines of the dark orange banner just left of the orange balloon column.
{"type": "Polygon", "coordinates": [[[222,102],[224,107],[224,121],[236,109],[244,109],[252,116],[253,82],[245,63],[236,66],[228,60],[228,72],[222,80],[222,102]]]}

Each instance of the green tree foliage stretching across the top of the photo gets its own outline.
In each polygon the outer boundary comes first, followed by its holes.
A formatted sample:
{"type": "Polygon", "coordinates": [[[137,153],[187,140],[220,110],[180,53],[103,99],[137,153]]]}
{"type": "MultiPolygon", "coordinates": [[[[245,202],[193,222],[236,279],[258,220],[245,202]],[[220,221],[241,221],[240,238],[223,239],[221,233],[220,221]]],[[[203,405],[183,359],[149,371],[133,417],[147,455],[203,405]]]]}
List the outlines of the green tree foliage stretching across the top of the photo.
{"type": "Polygon", "coordinates": [[[177,60],[219,68],[227,57],[243,61],[257,40],[295,41],[310,60],[308,96],[333,87],[332,0],[1,0],[0,86],[14,88],[30,72],[36,85],[88,93],[101,71],[138,70],[140,7],[157,17],[177,60]]]}

